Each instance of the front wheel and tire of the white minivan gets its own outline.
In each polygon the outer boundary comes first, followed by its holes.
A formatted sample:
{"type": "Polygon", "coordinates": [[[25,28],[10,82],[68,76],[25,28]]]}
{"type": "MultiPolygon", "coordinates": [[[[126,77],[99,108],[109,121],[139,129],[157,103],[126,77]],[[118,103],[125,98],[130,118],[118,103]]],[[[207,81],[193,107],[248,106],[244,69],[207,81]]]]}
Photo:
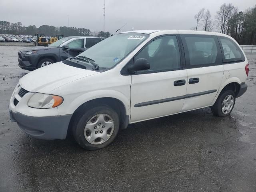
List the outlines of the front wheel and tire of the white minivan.
{"type": "Polygon", "coordinates": [[[86,150],[98,150],[108,146],[116,138],[118,130],[119,116],[107,105],[95,106],[90,110],[86,108],[80,110],[72,125],[76,142],[86,150]]]}

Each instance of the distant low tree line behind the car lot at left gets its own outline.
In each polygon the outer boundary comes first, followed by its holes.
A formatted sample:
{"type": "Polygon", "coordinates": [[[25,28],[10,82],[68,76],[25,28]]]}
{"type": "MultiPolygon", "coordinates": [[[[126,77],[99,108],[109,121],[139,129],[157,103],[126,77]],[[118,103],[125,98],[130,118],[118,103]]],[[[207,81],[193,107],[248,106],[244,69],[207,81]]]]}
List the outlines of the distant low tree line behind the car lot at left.
{"type": "Polygon", "coordinates": [[[0,21],[0,34],[35,35],[36,33],[43,33],[46,36],[54,36],[56,34],[62,34],[64,36],[110,36],[110,32],[92,32],[86,28],[55,27],[49,25],[42,25],[37,28],[35,25],[22,26],[21,22],[10,23],[8,21],[0,21]]]}

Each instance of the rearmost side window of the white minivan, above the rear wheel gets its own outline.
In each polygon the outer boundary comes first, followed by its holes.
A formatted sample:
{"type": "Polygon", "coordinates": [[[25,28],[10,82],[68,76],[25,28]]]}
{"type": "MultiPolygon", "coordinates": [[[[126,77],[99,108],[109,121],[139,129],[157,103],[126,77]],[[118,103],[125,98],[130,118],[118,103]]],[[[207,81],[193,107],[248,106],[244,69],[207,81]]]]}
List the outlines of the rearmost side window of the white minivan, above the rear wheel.
{"type": "Polygon", "coordinates": [[[238,45],[231,39],[226,37],[218,37],[222,49],[223,62],[239,62],[244,61],[244,55],[238,45]]]}

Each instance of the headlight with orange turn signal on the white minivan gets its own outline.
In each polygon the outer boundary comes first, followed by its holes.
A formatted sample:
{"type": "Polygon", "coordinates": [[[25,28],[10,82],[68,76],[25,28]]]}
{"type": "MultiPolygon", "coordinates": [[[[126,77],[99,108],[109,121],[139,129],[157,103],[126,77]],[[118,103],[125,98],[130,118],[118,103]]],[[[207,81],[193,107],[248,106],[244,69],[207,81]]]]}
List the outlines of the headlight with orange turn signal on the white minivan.
{"type": "Polygon", "coordinates": [[[28,100],[28,106],[38,109],[54,108],[62,104],[63,98],[57,95],[34,93],[28,100]]]}

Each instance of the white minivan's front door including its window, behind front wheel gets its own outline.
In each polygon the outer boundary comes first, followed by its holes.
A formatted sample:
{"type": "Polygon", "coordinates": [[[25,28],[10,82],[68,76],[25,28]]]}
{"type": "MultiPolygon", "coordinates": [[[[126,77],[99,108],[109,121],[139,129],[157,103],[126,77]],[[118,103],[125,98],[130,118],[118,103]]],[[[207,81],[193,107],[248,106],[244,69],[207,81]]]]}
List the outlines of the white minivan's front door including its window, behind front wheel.
{"type": "Polygon", "coordinates": [[[187,86],[180,52],[177,36],[169,35],[150,41],[134,57],[146,58],[150,69],[131,76],[131,122],[180,112],[187,86]]]}

